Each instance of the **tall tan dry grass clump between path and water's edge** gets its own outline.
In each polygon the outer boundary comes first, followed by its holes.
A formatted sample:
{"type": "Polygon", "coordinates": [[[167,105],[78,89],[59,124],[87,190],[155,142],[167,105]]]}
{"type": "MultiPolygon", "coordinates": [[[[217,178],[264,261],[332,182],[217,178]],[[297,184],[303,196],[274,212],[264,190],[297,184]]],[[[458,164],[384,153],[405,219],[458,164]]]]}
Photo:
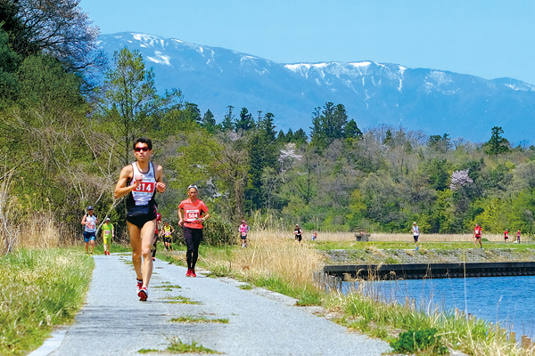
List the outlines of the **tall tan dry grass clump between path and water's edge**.
{"type": "Polygon", "coordinates": [[[204,258],[210,270],[228,268],[245,279],[277,277],[292,287],[312,283],[312,271],[323,268],[324,257],[308,243],[296,243],[286,231],[251,231],[249,247],[233,253],[210,254],[204,258]]]}

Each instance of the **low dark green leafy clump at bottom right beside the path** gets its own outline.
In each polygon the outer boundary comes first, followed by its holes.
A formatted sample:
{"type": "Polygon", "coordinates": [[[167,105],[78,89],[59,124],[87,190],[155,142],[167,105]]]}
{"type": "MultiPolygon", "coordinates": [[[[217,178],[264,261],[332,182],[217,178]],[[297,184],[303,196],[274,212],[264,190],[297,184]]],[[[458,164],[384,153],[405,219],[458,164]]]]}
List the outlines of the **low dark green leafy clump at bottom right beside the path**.
{"type": "Polygon", "coordinates": [[[411,329],[399,334],[398,340],[391,342],[390,345],[394,352],[425,352],[431,355],[446,354],[448,348],[440,342],[441,336],[436,334],[436,328],[411,329]]]}

